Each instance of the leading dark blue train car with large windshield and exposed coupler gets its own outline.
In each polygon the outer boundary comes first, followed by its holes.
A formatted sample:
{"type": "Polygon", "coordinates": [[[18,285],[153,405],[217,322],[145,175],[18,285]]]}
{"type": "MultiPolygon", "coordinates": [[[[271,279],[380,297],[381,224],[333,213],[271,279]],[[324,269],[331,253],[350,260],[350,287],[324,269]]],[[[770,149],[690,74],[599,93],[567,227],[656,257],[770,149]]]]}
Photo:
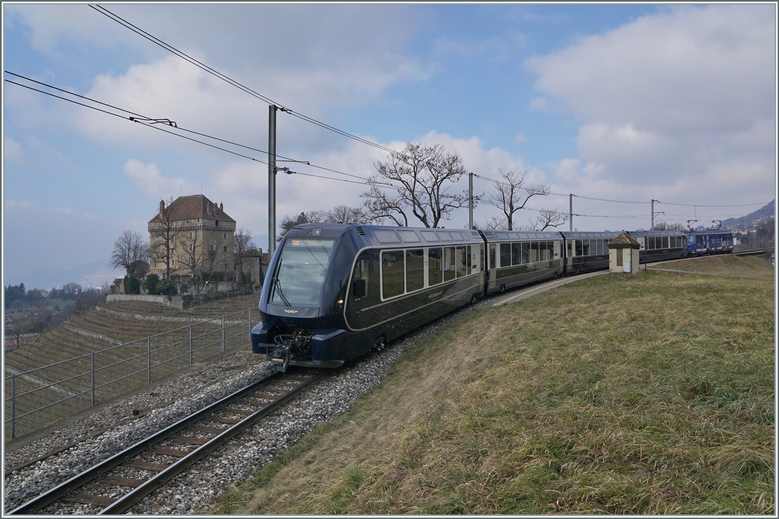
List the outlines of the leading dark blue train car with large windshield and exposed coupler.
{"type": "Polygon", "coordinates": [[[259,300],[252,351],[336,367],[484,293],[478,231],[311,223],[284,235],[259,300]]]}

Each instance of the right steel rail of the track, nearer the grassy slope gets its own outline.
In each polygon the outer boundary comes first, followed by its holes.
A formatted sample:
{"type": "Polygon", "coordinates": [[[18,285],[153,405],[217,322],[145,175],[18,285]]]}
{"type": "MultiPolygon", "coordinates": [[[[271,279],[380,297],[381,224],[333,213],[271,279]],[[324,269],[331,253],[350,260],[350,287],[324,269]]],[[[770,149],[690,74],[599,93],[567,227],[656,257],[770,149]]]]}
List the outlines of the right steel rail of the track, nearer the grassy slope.
{"type": "Polygon", "coordinates": [[[297,396],[298,393],[303,391],[305,387],[308,387],[308,385],[313,384],[315,381],[323,379],[329,374],[330,371],[325,370],[322,373],[319,373],[319,375],[312,377],[311,379],[305,380],[305,382],[299,384],[297,387],[294,387],[294,389],[287,391],[287,393],[282,395],[280,398],[277,398],[276,400],[270,402],[270,404],[266,405],[265,407],[260,408],[254,414],[247,416],[245,419],[241,420],[241,422],[236,423],[234,426],[231,426],[230,428],[225,430],[224,433],[220,433],[219,436],[212,438],[211,440],[208,441],[208,443],[203,444],[200,447],[196,448],[194,451],[187,454],[184,458],[179,459],[174,464],[164,469],[164,471],[158,472],[157,475],[153,475],[150,479],[146,479],[146,481],[143,482],[140,486],[136,487],[135,489],[132,489],[129,493],[126,493],[124,496],[119,497],[118,500],[108,505],[108,507],[105,507],[103,510],[100,510],[100,512],[98,512],[97,515],[123,514],[130,508],[134,507],[141,500],[143,500],[144,497],[148,496],[150,493],[153,493],[161,486],[164,486],[165,483],[173,479],[176,475],[184,472],[187,468],[189,468],[190,465],[196,463],[196,461],[199,461],[201,458],[209,454],[211,451],[214,451],[218,447],[221,447],[222,445],[226,444],[227,441],[237,436],[239,433],[241,433],[247,427],[251,426],[257,420],[275,411],[278,407],[280,407],[280,405],[289,402],[292,398],[297,396]]]}

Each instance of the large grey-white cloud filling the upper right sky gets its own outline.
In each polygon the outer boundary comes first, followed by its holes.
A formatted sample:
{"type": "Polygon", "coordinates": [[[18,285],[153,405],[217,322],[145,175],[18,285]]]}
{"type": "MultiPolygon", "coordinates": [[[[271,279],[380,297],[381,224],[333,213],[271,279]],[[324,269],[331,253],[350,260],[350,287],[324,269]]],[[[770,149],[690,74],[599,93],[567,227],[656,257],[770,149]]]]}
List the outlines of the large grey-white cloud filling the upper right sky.
{"type": "Polygon", "coordinates": [[[528,60],[531,106],[551,98],[580,121],[581,171],[563,160],[557,181],[679,202],[774,191],[774,9],[674,7],[528,60]]]}

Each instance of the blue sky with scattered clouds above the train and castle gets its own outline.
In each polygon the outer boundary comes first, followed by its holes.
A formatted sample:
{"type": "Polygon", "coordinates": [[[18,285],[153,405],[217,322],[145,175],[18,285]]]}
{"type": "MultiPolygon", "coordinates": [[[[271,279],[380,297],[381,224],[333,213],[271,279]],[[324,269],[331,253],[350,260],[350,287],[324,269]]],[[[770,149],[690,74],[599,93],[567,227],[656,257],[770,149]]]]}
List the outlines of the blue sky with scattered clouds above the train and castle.
{"type": "MultiPolygon", "coordinates": [[[[759,209],[776,191],[774,5],[106,7],[263,96],[381,146],[441,144],[492,179],[527,170],[527,185],[559,194],[528,207],[567,212],[573,193],[578,230],[646,229],[652,199],[657,220],[705,225],[759,209]]],[[[267,148],[267,103],[88,5],[5,3],[3,29],[6,71],[267,148]]],[[[9,82],[3,124],[6,279],[108,258],[123,230],[146,234],[160,199],[201,191],[267,247],[264,163],[9,82]]],[[[386,160],[282,112],[277,153],[358,177],[386,160]]],[[[280,174],[277,220],[361,205],[366,188],[280,174]]],[[[477,194],[494,188],[474,181],[477,194]]],[[[451,189],[467,189],[467,177],[451,189]]],[[[517,223],[537,214],[520,211],[517,223]]],[[[490,216],[491,205],[474,211],[477,226],[490,216]]],[[[467,225],[467,209],[440,225],[467,225]]]]}

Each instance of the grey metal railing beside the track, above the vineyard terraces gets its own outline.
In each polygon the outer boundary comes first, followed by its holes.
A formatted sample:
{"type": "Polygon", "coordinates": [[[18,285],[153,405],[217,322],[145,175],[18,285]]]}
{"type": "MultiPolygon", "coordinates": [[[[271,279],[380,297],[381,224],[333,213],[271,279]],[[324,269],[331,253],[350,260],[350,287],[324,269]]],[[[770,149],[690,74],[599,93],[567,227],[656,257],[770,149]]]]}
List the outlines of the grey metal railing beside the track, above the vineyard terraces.
{"type": "Polygon", "coordinates": [[[249,308],[26,371],[6,363],[5,369],[11,371],[5,377],[5,395],[10,395],[4,402],[6,437],[30,433],[246,344],[253,321],[259,322],[259,313],[255,314],[252,317],[249,308]]]}

